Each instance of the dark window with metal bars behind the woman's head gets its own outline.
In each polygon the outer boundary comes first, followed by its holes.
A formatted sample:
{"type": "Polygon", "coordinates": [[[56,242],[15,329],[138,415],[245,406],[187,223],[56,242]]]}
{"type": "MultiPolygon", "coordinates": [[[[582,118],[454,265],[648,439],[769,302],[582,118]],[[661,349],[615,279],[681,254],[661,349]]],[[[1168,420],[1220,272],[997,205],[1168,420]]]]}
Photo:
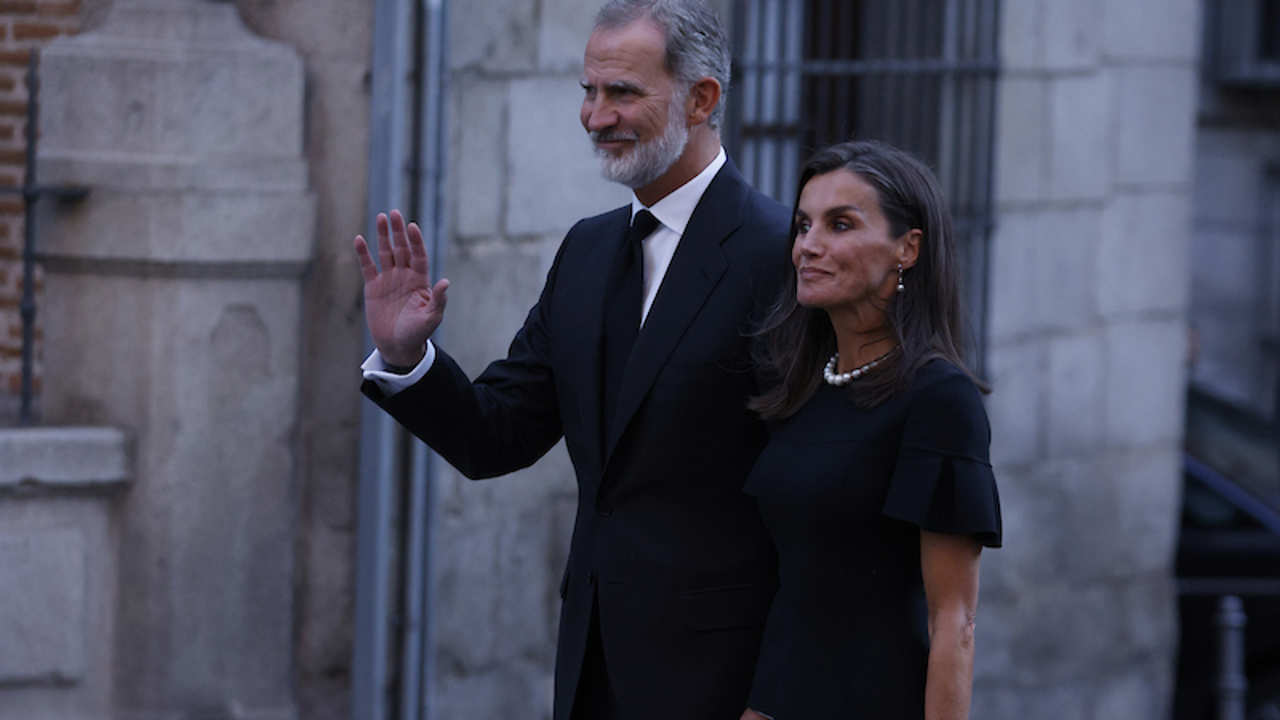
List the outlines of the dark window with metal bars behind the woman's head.
{"type": "Polygon", "coordinates": [[[809,154],[876,138],[934,169],[955,219],[982,366],[998,0],[733,3],[726,145],[762,192],[791,204],[809,154]]]}

